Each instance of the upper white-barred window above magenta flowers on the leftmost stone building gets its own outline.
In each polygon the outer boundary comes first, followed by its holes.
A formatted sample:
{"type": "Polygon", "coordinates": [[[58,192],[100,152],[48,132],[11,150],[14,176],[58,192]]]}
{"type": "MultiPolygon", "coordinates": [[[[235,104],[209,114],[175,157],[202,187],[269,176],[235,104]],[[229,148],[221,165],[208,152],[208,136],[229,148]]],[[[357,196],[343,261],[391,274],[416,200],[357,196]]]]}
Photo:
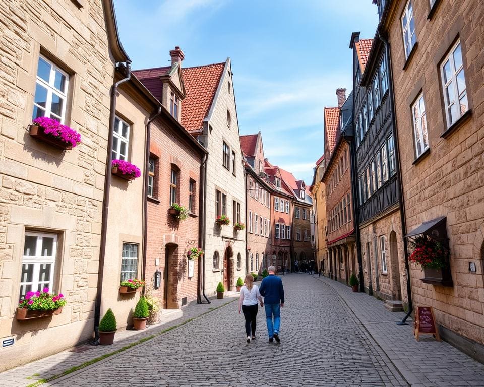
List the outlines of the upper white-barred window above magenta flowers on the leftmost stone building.
{"type": "Polygon", "coordinates": [[[65,123],[69,75],[39,56],[32,119],[50,117],[65,123]]]}

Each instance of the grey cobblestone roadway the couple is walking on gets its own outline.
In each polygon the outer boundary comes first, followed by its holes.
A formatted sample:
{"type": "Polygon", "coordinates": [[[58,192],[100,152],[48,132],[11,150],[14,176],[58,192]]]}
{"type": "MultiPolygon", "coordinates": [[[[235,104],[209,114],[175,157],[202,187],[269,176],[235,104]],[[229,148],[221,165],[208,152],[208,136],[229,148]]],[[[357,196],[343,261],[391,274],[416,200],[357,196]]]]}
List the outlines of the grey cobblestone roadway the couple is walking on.
{"type": "Polygon", "coordinates": [[[307,274],[283,283],[281,344],[268,342],[262,309],[257,339],[247,343],[232,302],[48,385],[408,385],[330,286],[307,274]]]}

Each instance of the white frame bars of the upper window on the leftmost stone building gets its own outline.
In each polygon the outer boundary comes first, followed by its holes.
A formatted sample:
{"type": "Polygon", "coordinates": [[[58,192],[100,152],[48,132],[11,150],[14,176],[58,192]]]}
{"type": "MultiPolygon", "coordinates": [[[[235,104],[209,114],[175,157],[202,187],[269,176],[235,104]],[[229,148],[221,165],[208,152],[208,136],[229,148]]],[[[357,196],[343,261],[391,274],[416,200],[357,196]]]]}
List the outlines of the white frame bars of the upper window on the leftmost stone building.
{"type": "MultiPolygon", "coordinates": [[[[67,110],[67,100],[68,100],[68,92],[69,92],[69,74],[67,74],[65,71],[60,69],[59,67],[55,66],[53,62],[48,60],[45,56],[40,55],[39,56],[39,61],[37,63],[37,76],[36,76],[36,81],[35,85],[43,87],[44,89],[47,90],[47,96],[45,100],[45,107],[40,106],[39,104],[34,102],[34,106],[36,106],[38,109],[41,109],[44,111],[43,115],[40,115],[39,117],[50,117],[54,118],[57,121],[61,122],[62,124],[65,123],[66,121],[66,110],[67,110]],[[50,66],[50,73],[49,73],[49,79],[44,80],[43,78],[39,77],[38,74],[38,66],[40,61],[44,61],[50,66]],[[55,73],[58,72],[59,74],[63,75],[65,77],[65,84],[64,84],[64,91],[57,89],[55,85],[55,73]],[[62,109],[61,109],[61,115],[57,115],[55,113],[52,113],[52,95],[55,94],[59,99],[63,101],[62,103],[62,109]]],[[[35,94],[34,94],[34,101],[35,101],[35,94]]],[[[35,119],[36,116],[34,116],[34,109],[32,111],[32,119],[35,119]]]]}

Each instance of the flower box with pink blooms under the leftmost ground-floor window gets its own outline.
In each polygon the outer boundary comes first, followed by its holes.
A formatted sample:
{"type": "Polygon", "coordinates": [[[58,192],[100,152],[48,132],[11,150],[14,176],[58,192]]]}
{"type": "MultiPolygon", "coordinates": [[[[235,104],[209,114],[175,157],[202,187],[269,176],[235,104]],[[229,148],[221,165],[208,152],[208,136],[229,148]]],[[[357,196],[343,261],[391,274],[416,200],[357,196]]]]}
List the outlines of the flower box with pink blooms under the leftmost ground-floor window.
{"type": "Polygon", "coordinates": [[[49,293],[49,288],[44,288],[41,292],[27,292],[19,302],[16,318],[17,320],[29,320],[53,316],[60,314],[64,305],[66,305],[64,295],[49,293]]]}

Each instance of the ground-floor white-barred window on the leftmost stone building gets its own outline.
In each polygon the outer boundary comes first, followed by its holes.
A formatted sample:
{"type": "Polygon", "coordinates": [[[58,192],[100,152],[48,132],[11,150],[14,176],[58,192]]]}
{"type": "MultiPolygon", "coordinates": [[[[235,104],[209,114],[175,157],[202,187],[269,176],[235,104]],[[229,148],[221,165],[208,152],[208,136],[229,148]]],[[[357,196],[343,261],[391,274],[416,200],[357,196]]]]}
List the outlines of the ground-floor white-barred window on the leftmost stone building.
{"type": "Polygon", "coordinates": [[[29,291],[53,290],[56,251],[57,235],[25,234],[20,299],[29,291]]]}

